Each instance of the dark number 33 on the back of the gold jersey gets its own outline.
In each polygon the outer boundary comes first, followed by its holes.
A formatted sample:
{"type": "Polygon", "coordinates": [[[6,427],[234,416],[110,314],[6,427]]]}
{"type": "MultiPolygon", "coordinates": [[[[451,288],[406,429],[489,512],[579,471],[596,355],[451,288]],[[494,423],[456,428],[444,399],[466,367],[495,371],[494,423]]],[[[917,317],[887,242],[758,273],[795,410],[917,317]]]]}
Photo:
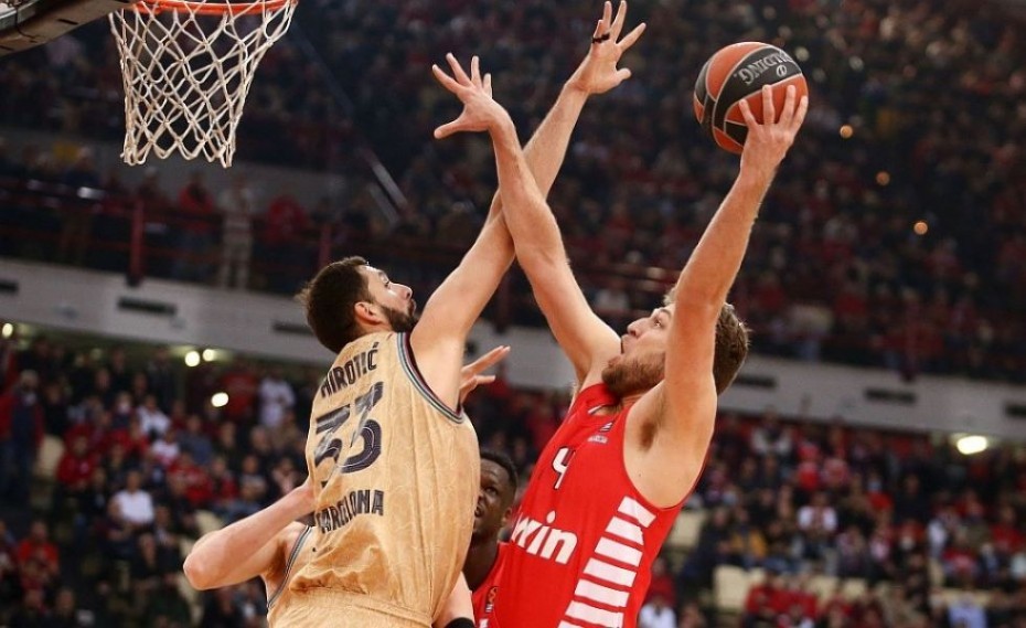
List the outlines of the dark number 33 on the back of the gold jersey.
{"type": "Polygon", "coordinates": [[[377,405],[384,394],[385,384],[376,382],[371,386],[371,390],[356,397],[352,404],[333,409],[316,419],[317,433],[324,434],[324,436],[321,437],[320,443],[317,444],[317,449],[313,451],[314,466],[320,466],[322,461],[331,458],[335,461],[336,469],[341,469],[343,473],[353,473],[366,469],[377,460],[377,457],[382,454],[382,426],[371,418],[371,411],[374,409],[374,406],[377,405]],[[339,465],[343,443],[341,438],[332,438],[332,436],[345,425],[353,412],[360,415],[360,423],[353,432],[349,448],[354,448],[357,440],[362,441],[363,447],[339,465]]]}

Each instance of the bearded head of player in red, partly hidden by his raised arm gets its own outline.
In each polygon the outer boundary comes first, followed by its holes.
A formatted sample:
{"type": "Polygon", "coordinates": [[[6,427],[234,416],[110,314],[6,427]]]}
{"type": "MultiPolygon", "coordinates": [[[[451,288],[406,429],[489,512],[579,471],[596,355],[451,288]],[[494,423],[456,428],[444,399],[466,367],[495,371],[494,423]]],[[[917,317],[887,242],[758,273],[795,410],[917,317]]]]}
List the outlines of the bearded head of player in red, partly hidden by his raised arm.
{"type": "MultiPolygon", "coordinates": [[[[675,309],[671,292],[663,307],[627,326],[627,333],[620,340],[620,354],[602,370],[602,382],[611,393],[620,398],[643,394],[663,380],[670,322],[675,309]]],[[[734,382],[747,355],[748,328],[737,318],[734,306],[724,304],[716,321],[713,358],[716,394],[722,394],[734,382]]]]}

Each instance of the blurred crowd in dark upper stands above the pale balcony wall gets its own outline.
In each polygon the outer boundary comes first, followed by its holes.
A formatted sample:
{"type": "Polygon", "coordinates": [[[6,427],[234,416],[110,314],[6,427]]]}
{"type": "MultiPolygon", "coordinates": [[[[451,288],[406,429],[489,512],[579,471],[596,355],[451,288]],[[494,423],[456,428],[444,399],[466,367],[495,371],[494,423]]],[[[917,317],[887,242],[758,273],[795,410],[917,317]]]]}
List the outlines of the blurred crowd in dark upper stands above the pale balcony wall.
{"type": "MultiPolygon", "coordinates": [[[[297,32],[261,64],[239,158],[338,164],[355,152],[346,147],[359,128],[408,202],[397,222],[382,220],[365,193],[303,214],[331,227],[317,242],[333,255],[380,251],[429,288],[472,240],[494,185],[483,142],[430,139],[457,108],[429,64],[448,51],[481,54],[525,139],[584,54],[598,10],[590,0],[306,0],[297,32]],[[349,113],[321,88],[320,65],[299,42],[332,68],[349,113]]],[[[667,0],[631,7],[629,22],[641,20],[649,31],[624,60],[634,77],[586,108],[551,198],[607,318],[652,307],[733,179],[735,158],[692,120],[697,68],[727,43],[770,41],[803,66],[812,110],[731,297],[757,331],[756,351],[909,377],[1026,380],[1026,294],[1016,289],[1026,280],[1020,22],[968,0],[943,10],[928,0],[667,0]]],[[[10,96],[0,123],[117,138],[119,81],[109,33],[87,26],[0,64],[10,96]]],[[[172,213],[185,211],[171,199],[172,213]]],[[[180,225],[168,228],[171,241],[184,237],[180,225]]],[[[217,246],[210,234],[191,242],[217,246]]],[[[249,259],[233,256],[241,267],[249,259]]],[[[292,287],[296,277],[276,283],[292,287]]],[[[506,318],[541,323],[522,277],[514,288],[506,318]]]]}

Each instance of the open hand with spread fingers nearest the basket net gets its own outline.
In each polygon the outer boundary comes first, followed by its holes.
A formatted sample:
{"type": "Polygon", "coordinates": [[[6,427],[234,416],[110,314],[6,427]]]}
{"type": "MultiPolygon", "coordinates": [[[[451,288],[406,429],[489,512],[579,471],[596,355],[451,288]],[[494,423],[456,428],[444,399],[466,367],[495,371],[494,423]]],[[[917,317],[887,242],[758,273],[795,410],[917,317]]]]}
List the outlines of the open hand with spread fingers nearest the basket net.
{"type": "Polygon", "coordinates": [[[492,99],[492,75],[485,74],[481,77],[480,60],[477,55],[470,60],[470,76],[452,53],[446,55],[446,61],[449,62],[452,76],[446,74],[438,65],[431,65],[431,72],[442,87],[456,94],[463,103],[463,110],[451,123],[435,129],[436,139],[460,131],[491,131],[510,120],[510,114],[492,99]]]}

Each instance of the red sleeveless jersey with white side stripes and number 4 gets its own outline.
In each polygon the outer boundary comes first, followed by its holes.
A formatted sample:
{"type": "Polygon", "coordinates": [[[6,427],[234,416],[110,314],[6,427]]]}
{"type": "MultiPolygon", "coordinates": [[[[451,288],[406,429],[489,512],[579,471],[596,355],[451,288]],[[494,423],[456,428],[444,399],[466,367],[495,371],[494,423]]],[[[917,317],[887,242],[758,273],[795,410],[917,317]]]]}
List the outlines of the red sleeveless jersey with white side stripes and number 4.
{"type": "MultiPolygon", "coordinates": [[[[681,504],[655,508],[623,462],[627,415],[581,391],[542,453],[513,523],[490,628],[633,627],[681,504]]],[[[683,504],[683,501],[682,501],[683,504]]]]}

